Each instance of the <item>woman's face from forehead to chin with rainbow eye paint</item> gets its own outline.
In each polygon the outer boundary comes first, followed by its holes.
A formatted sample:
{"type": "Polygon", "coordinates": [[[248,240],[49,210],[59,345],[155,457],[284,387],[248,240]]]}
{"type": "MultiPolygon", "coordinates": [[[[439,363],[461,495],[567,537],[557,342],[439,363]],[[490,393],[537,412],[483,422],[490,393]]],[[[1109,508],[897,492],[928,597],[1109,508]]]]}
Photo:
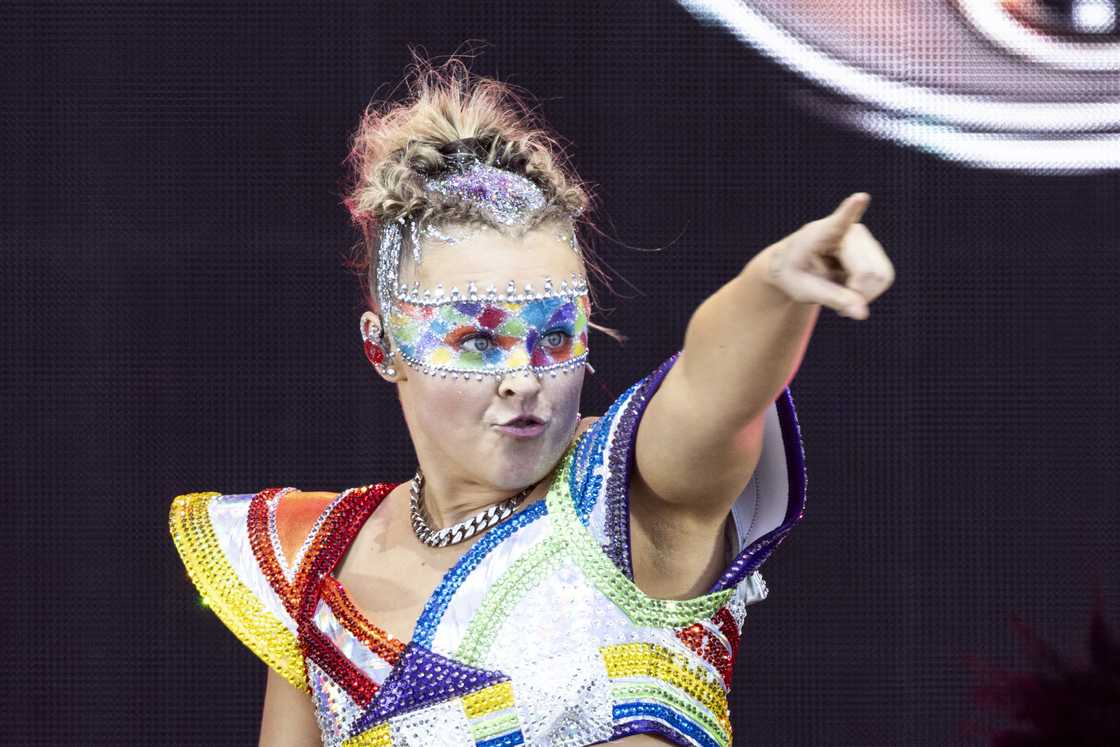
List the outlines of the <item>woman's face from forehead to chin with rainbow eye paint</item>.
{"type": "MultiPolygon", "coordinates": [[[[504,292],[510,281],[522,292],[525,283],[532,283],[534,291],[541,290],[547,278],[552,279],[554,290],[559,289],[560,280],[570,279],[572,273],[586,279],[582,261],[562,239],[570,236],[570,228],[566,234],[559,223],[545,223],[520,237],[478,226],[442,230],[459,241],[446,243],[424,236],[418,267],[412,263],[410,252],[402,250],[401,280],[410,288],[419,281],[421,290],[441,284],[445,293],[451,288],[465,292],[474,282],[482,295],[492,284],[504,292]]],[[[439,465],[447,470],[447,477],[457,482],[503,491],[520,489],[548,475],[578,424],[585,367],[573,365],[554,376],[551,372],[512,370],[525,364],[550,365],[584,352],[585,314],[589,311],[586,304],[585,297],[575,302],[550,299],[523,305],[507,317],[501,329],[506,334],[501,339],[489,333],[472,337],[470,319],[461,319],[458,311],[452,312],[448,307],[439,333],[444,342],[428,348],[424,360],[444,361],[448,366],[485,362],[486,366],[510,370],[500,375],[483,374],[482,381],[474,375],[452,377],[421,372],[403,361],[400,351],[414,356],[416,337],[407,336],[417,336],[417,330],[423,330],[430,320],[413,316],[414,324],[408,332],[401,324],[408,321],[405,317],[384,320],[386,333],[393,338],[393,349],[398,351],[393,361],[399,372],[396,382],[404,419],[421,463],[429,465],[428,470],[439,465]],[[558,321],[561,319],[562,324],[558,321]],[[563,333],[549,334],[560,328],[575,332],[576,339],[563,333]],[[522,414],[540,418],[544,421],[543,430],[525,437],[497,428],[522,414]]],[[[515,307],[506,307],[511,308],[515,307]]],[[[411,312],[414,315],[416,310],[412,308],[411,312]]]]}

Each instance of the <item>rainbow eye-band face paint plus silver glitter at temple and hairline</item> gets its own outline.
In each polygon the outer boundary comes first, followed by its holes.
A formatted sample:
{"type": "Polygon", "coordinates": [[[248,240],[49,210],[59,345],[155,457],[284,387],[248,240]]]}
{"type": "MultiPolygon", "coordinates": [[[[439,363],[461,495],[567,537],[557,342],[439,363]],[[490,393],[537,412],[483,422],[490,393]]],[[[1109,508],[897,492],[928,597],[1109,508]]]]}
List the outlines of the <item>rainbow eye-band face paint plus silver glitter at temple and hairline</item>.
{"type": "MultiPolygon", "coordinates": [[[[429,179],[424,190],[474,206],[495,227],[526,223],[548,205],[543,192],[531,179],[480,162],[477,157],[455,157],[452,168],[429,179]]],[[[580,211],[569,213],[575,221],[580,211]]],[[[395,338],[401,358],[432,375],[457,379],[511,372],[568,373],[587,364],[587,328],[590,316],[587,280],[571,273],[554,289],[549,278],[541,291],[525,283],[517,292],[510,281],[505,292],[491,288],[479,292],[474,282],[465,291],[442,286],[421,290],[414,281],[401,281],[401,254],[411,245],[412,261],[421,263],[421,234],[449,244],[463,237],[445,234],[428,221],[400,215],[381,226],[376,289],[380,312],[395,338]]],[[[575,227],[559,237],[580,255],[575,227]]]]}

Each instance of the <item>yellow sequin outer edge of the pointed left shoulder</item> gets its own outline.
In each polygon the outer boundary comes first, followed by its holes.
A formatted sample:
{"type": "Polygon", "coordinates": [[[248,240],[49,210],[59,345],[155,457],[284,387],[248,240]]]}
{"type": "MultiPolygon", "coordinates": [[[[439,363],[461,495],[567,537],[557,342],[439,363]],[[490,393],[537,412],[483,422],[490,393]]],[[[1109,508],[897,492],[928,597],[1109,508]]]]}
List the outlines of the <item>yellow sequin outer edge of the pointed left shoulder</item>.
{"type": "Polygon", "coordinates": [[[211,499],[221,493],[186,493],[171,502],[175,548],[206,606],[256,656],[295,688],[310,693],[296,636],[237,578],[209,520],[211,499]]]}

